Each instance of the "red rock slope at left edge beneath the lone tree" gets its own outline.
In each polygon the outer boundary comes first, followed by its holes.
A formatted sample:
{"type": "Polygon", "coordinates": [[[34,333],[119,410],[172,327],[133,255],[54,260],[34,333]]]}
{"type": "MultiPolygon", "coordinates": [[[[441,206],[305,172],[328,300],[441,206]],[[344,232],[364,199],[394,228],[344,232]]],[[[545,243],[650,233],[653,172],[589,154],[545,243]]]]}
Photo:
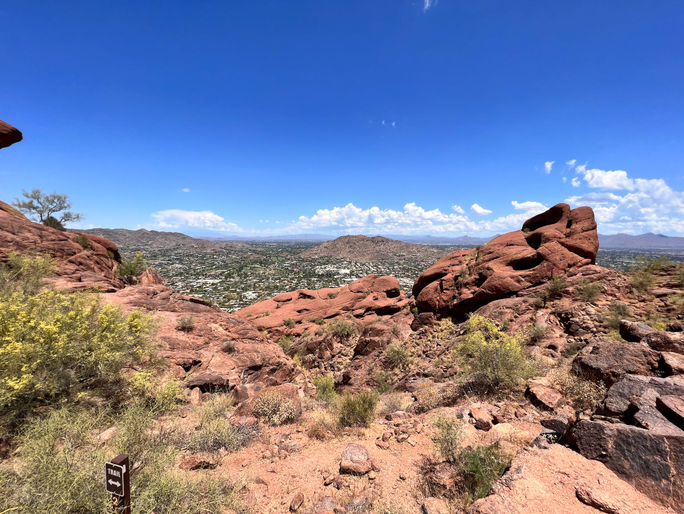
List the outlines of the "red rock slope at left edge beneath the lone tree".
{"type": "Polygon", "coordinates": [[[6,260],[11,252],[52,256],[57,263],[57,285],[61,288],[113,291],[125,285],[116,274],[121,257],[111,241],[33,223],[0,202],[0,260],[6,260]]]}

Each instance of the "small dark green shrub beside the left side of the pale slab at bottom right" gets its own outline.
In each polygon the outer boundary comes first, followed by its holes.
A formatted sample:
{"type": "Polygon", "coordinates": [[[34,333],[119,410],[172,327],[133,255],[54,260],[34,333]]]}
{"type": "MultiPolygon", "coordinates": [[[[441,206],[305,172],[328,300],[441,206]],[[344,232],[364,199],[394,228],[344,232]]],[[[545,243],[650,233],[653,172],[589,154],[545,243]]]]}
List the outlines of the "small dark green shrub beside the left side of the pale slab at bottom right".
{"type": "Polygon", "coordinates": [[[455,490],[469,504],[487,496],[508,467],[510,458],[501,452],[498,443],[477,448],[465,448],[454,462],[455,490]]]}

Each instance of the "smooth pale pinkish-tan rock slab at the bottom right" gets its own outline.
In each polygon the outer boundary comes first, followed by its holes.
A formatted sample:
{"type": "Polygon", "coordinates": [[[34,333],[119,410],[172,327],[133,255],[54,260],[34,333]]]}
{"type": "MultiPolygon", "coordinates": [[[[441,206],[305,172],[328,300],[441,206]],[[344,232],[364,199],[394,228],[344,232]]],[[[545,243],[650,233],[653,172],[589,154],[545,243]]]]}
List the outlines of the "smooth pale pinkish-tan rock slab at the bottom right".
{"type": "Polygon", "coordinates": [[[558,444],[523,450],[492,493],[467,509],[473,514],[597,511],[674,512],[634,490],[604,464],[558,444]]]}

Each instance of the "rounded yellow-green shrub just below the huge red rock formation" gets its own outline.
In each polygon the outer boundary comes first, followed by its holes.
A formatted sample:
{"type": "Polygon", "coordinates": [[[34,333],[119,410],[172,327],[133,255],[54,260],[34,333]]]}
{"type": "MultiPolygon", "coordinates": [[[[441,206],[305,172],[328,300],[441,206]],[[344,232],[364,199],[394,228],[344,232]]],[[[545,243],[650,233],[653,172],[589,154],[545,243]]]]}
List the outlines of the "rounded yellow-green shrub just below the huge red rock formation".
{"type": "Polygon", "coordinates": [[[455,351],[464,370],[486,377],[492,387],[510,388],[536,373],[534,360],[524,347],[521,333],[509,335],[492,320],[475,314],[455,351]]]}

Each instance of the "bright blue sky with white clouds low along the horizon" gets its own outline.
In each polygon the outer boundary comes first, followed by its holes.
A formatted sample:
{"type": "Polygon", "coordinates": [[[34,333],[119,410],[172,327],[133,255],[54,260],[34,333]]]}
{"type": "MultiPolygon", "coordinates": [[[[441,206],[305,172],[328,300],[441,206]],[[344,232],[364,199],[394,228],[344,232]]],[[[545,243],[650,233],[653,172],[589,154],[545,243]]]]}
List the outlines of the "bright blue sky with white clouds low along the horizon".
{"type": "Polygon", "coordinates": [[[0,3],[0,198],[82,227],[684,235],[680,1],[0,3]]]}

